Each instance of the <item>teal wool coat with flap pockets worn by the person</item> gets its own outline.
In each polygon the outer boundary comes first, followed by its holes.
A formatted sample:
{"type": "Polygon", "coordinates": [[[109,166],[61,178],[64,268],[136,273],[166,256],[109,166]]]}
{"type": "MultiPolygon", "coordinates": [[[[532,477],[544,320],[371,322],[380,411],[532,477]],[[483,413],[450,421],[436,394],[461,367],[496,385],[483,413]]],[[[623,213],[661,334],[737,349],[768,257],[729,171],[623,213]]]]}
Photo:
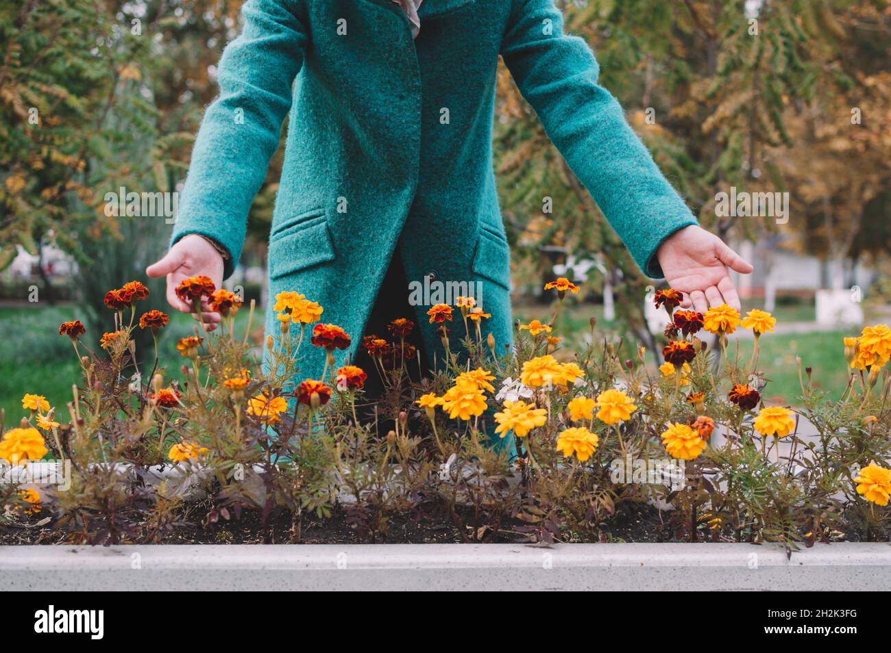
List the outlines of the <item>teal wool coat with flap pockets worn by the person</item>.
{"type": "MultiPolygon", "coordinates": [[[[563,33],[552,0],[425,0],[417,39],[392,0],[249,0],[242,13],[173,239],[216,239],[232,273],[290,112],[270,295],[296,290],[320,302],[323,321],[353,337],[348,355],[397,245],[409,282],[481,282],[486,332],[499,349],[511,342],[510,252],[492,163],[499,55],[644,272],[659,277],[659,244],[695,224],[597,84],[591,50],[563,33]]],[[[418,322],[441,367],[429,305],[415,310],[393,318],[418,322]]],[[[456,318],[453,339],[464,335],[456,318]]],[[[266,329],[278,335],[271,309],[266,329]]],[[[323,353],[304,351],[301,376],[317,377],[323,353]]]]}

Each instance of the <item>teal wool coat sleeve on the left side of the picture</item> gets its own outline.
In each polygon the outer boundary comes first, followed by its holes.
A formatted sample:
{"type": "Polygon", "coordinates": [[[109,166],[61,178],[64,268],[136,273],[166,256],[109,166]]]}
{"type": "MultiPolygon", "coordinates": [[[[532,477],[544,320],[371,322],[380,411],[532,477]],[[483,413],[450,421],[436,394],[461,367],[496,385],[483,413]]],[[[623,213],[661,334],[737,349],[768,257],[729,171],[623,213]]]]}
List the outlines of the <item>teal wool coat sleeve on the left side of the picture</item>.
{"type": "Polygon", "coordinates": [[[216,240],[229,254],[225,277],[241,256],[250,205],[278,149],[307,43],[290,0],[248,0],[241,13],[244,28],[219,61],[220,92],[201,121],[171,239],[216,240]]]}

